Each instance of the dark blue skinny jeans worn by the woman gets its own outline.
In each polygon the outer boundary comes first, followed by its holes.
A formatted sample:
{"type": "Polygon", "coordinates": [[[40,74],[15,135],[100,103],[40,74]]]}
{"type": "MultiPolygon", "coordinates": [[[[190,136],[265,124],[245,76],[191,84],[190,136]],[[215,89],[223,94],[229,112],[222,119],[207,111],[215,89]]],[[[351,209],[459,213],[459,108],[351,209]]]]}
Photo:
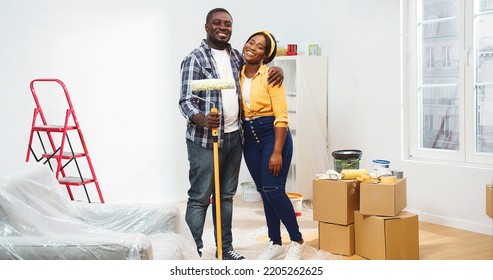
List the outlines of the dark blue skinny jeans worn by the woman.
{"type": "Polygon", "coordinates": [[[302,239],[293,204],[286,194],[286,180],[293,155],[293,140],[288,130],[282,150],[282,169],[278,176],[269,172],[269,159],[275,142],[274,117],[245,121],[245,163],[260,192],[264,205],[268,236],[274,244],[282,244],[281,222],[292,241],[302,239]]]}

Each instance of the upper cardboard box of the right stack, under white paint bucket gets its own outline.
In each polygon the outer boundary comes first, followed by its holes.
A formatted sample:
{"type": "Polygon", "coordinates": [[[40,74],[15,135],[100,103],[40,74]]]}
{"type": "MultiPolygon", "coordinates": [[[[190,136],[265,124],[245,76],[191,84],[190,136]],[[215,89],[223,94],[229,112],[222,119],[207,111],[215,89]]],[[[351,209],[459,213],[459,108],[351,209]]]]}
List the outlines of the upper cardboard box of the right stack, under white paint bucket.
{"type": "Polygon", "coordinates": [[[393,217],[407,206],[406,178],[396,183],[361,183],[360,212],[363,215],[393,217]]]}

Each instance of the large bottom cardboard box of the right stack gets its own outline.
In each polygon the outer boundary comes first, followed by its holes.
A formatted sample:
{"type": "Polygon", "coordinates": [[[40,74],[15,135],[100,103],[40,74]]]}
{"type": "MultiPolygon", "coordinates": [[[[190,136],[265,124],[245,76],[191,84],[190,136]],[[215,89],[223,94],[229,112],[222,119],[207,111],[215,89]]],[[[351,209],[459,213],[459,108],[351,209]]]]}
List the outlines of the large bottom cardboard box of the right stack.
{"type": "Polygon", "coordinates": [[[418,215],[402,211],[395,217],[354,213],[355,252],[370,260],[418,260],[418,215]]]}

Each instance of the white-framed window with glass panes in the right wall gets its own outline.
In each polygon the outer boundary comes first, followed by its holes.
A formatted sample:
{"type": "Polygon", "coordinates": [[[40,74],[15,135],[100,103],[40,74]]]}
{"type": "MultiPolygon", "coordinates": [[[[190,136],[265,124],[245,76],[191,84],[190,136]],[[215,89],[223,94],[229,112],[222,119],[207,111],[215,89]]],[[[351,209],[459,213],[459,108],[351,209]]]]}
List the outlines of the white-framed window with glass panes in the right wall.
{"type": "Polygon", "coordinates": [[[493,0],[401,3],[409,157],[493,164],[493,0]]]}

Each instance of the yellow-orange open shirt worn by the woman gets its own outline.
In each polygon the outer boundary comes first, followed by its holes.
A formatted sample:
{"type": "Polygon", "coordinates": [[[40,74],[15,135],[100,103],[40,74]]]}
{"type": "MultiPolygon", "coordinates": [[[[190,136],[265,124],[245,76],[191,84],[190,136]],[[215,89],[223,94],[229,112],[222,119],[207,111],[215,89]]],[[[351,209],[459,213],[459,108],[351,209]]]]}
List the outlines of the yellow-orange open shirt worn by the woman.
{"type": "MultiPolygon", "coordinates": [[[[284,85],[272,86],[267,82],[268,70],[266,65],[260,66],[250,85],[250,108],[243,98],[243,117],[255,119],[257,117],[274,116],[275,127],[288,126],[288,106],[284,85]]],[[[241,70],[240,84],[243,88],[245,81],[245,66],[241,70]]],[[[243,93],[242,93],[243,94],[243,93]]]]}

